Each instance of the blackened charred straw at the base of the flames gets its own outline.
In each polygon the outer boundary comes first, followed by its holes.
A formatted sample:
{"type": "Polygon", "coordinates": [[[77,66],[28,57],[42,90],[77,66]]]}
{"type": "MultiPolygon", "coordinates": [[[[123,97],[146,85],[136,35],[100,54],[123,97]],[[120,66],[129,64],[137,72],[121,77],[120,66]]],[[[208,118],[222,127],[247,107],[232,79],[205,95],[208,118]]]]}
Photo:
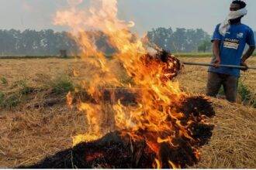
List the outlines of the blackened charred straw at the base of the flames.
{"type": "MultiPolygon", "coordinates": [[[[177,109],[185,114],[182,122],[189,120],[189,117],[201,120],[200,117],[214,115],[212,105],[204,97],[189,97],[181,106],[177,109]]],[[[115,131],[98,140],[79,143],[36,165],[19,168],[157,168],[152,167],[157,164],[158,168],[185,168],[186,165],[198,162],[199,152],[195,148],[206,144],[212,135],[213,126],[195,122],[190,124],[188,130],[193,140],[184,136],[176,137],[173,138],[172,145],[161,141],[159,162],[156,161],[157,154],[147,145],[147,141],[134,141],[129,135],[123,136],[123,131],[115,131]]]]}

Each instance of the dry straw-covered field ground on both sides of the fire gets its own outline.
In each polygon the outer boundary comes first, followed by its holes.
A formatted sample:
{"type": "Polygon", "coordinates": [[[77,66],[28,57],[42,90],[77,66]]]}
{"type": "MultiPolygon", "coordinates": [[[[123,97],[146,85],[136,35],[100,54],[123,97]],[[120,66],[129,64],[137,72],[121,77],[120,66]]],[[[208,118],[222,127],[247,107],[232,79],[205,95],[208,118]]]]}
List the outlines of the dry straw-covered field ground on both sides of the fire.
{"type": "MultiPolygon", "coordinates": [[[[209,57],[183,56],[180,59],[204,63],[210,60],[209,57]]],[[[256,65],[256,58],[248,63],[256,65]]],[[[48,82],[61,75],[78,81],[72,76],[73,67],[86,69],[78,59],[0,60],[1,93],[14,93],[23,81],[26,86],[22,83],[22,88],[28,86],[32,89],[30,93],[25,88],[27,96],[17,106],[0,108],[0,167],[12,168],[39,162],[48,155],[70,148],[71,136],[86,131],[84,115],[75,108],[67,107],[64,95],[45,90],[48,82]]],[[[256,70],[242,73],[240,78],[251,93],[256,93],[255,78],[256,70]]],[[[205,93],[206,79],[207,68],[204,66],[185,66],[176,78],[182,89],[192,95],[205,93]]],[[[20,94],[19,97],[23,98],[20,94]]],[[[216,127],[209,144],[201,148],[201,161],[195,167],[256,168],[256,109],[239,104],[240,100],[238,104],[222,99],[211,100],[216,117],[209,121],[216,127]]]]}

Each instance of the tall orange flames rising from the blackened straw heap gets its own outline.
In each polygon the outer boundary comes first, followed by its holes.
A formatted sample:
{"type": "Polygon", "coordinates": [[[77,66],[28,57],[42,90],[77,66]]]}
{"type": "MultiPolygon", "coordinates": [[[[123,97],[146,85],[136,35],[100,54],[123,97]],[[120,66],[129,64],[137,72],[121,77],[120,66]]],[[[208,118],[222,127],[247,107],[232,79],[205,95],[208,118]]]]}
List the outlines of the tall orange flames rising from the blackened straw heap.
{"type": "MultiPolygon", "coordinates": [[[[69,26],[72,36],[81,46],[81,57],[85,63],[90,63],[92,69],[90,78],[81,82],[82,87],[94,102],[78,101],[77,107],[85,112],[89,124],[88,133],[74,137],[74,145],[80,141],[92,141],[101,138],[108,129],[101,127],[106,108],[115,119],[115,129],[122,131],[123,136],[130,136],[133,141],[146,141],[156,158],[155,168],[161,168],[160,150],[162,144],[170,148],[178,146],[175,139],[187,138],[194,141],[188,128],[194,121],[182,122],[185,114],[175,107],[188,97],[180,90],[172,78],[181,69],[180,63],[168,53],[147,49],[146,44],[130,32],[134,22],[124,22],[117,17],[117,0],[93,0],[90,8],[78,8],[82,1],[68,0],[70,8],[58,11],[54,23],[69,26]],[[113,70],[113,64],[97,49],[95,42],[85,30],[101,31],[109,39],[109,44],[116,49],[113,59],[121,63],[118,70],[113,70]],[[152,53],[153,51],[153,53],[152,53]],[[132,82],[123,83],[119,80],[119,70],[130,77],[132,82]],[[136,92],[136,103],[123,104],[119,99],[114,104],[106,104],[104,95],[111,87],[110,96],[115,97],[115,89],[125,89],[136,92]]],[[[79,70],[74,73],[78,75],[79,70]]],[[[72,104],[71,93],[67,94],[67,104],[72,104]]],[[[195,156],[199,152],[195,149],[195,156]]],[[[170,168],[180,168],[177,163],[168,161],[170,168]]]]}

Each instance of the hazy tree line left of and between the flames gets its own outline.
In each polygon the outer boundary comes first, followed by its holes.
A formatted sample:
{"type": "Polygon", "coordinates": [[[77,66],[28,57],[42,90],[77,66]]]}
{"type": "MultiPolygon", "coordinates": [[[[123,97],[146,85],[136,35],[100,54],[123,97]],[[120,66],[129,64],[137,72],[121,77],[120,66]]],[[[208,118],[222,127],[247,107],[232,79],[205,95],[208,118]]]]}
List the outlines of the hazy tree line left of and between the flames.
{"type": "MultiPolygon", "coordinates": [[[[112,53],[107,43],[107,37],[102,32],[87,32],[89,38],[94,39],[99,50],[112,53]]],[[[0,30],[0,56],[57,56],[61,49],[67,54],[76,56],[79,52],[78,44],[71,39],[68,32],[54,32],[47,29],[35,31],[26,29],[0,30]]]]}

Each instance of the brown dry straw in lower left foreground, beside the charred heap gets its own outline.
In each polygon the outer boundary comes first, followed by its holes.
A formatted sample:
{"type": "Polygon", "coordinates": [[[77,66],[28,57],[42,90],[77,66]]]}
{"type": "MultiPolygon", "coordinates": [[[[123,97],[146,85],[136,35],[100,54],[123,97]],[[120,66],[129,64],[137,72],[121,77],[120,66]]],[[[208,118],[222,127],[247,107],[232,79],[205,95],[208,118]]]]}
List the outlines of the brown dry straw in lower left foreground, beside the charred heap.
{"type": "Polygon", "coordinates": [[[84,116],[63,106],[17,110],[0,116],[0,167],[39,162],[70,148],[71,135],[85,131],[84,116]]]}

